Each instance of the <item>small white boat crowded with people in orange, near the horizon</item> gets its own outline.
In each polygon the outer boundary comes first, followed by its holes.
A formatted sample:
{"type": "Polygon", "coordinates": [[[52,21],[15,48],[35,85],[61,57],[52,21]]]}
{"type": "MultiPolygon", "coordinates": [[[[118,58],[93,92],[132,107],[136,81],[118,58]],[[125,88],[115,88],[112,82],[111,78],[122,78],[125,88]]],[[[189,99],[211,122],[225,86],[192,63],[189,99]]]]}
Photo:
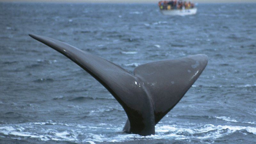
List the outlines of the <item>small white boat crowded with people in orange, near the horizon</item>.
{"type": "Polygon", "coordinates": [[[177,1],[177,0],[171,0],[171,1],[159,1],[158,6],[160,8],[160,11],[164,15],[193,15],[196,14],[197,8],[195,7],[195,4],[186,2],[186,1],[177,1]]]}

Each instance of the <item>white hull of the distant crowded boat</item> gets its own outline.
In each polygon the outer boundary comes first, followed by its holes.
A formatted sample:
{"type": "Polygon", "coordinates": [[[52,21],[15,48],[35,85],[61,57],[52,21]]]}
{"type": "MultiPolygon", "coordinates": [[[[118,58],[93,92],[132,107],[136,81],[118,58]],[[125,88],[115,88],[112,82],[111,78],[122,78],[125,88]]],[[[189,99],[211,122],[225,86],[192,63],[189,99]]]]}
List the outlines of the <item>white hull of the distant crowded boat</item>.
{"type": "Polygon", "coordinates": [[[182,9],[182,10],[161,10],[164,15],[193,15],[196,14],[197,8],[193,9],[182,9]]]}

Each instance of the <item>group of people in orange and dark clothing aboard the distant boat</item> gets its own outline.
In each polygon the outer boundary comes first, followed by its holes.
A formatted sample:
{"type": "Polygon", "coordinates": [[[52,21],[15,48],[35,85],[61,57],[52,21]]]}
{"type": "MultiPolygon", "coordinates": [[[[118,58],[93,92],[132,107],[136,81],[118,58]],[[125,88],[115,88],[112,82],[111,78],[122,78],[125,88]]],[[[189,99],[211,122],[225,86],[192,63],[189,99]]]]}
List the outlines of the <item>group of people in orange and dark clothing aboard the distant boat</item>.
{"type": "Polygon", "coordinates": [[[182,1],[182,0],[171,0],[171,1],[159,1],[158,6],[160,10],[173,10],[173,9],[182,9],[183,7],[185,9],[191,9],[195,7],[195,4],[182,1]]]}

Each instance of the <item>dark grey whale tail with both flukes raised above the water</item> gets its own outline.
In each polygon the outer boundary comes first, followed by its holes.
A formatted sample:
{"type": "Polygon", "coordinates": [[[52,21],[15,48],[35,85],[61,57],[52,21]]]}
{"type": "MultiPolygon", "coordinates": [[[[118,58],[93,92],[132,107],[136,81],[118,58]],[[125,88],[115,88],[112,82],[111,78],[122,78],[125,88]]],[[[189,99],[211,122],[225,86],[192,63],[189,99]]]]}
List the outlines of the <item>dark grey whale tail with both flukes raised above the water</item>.
{"type": "Polygon", "coordinates": [[[124,132],[155,134],[155,125],[180,101],[208,62],[204,54],[146,63],[130,74],[124,68],[58,40],[29,34],[62,53],[98,80],[121,104],[124,132]]]}

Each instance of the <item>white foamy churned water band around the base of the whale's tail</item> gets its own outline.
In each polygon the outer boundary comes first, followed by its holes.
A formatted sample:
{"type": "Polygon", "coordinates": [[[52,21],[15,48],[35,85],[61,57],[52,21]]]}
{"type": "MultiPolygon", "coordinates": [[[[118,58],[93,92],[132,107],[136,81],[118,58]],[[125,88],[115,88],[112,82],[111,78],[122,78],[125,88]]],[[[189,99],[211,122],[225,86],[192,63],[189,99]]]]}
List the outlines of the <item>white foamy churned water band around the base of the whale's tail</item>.
{"type": "Polygon", "coordinates": [[[122,125],[114,127],[111,124],[62,124],[49,122],[34,122],[26,124],[14,124],[9,126],[0,125],[0,135],[8,136],[11,138],[24,137],[24,138],[36,138],[42,141],[56,140],[56,141],[71,141],[71,142],[124,142],[131,140],[215,140],[223,136],[231,135],[235,132],[250,133],[256,135],[256,127],[251,126],[237,126],[237,125],[194,125],[188,124],[185,126],[180,126],[176,124],[156,125],[156,134],[149,136],[140,136],[138,134],[126,134],[126,133],[116,133],[112,136],[105,134],[93,133],[95,131],[122,131],[122,125]],[[53,126],[47,127],[44,125],[52,124],[53,126]],[[40,128],[39,126],[40,125],[40,128]],[[68,127],[65,130],[59,130],[60,125],[68,127]],[[84,137],[81,137],[84,135],[84,137]]]}

